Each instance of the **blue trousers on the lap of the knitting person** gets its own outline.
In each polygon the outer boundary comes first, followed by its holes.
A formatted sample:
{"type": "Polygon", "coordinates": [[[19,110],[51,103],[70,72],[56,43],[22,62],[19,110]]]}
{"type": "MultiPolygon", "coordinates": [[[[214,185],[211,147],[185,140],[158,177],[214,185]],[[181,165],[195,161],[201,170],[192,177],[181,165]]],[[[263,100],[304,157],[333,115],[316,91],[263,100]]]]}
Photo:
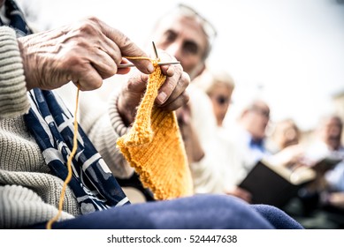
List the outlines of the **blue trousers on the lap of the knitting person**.
{"type": "MultiPolygon", "coordinates": [[[[45,223],[31,228],[45,228],[45,223]]],[[[196,195],[112,207],[56,222],[52,228],[269,229],[302,226],[273,206],[248,205],[239,198],[226,195],[196,195]]]]}

